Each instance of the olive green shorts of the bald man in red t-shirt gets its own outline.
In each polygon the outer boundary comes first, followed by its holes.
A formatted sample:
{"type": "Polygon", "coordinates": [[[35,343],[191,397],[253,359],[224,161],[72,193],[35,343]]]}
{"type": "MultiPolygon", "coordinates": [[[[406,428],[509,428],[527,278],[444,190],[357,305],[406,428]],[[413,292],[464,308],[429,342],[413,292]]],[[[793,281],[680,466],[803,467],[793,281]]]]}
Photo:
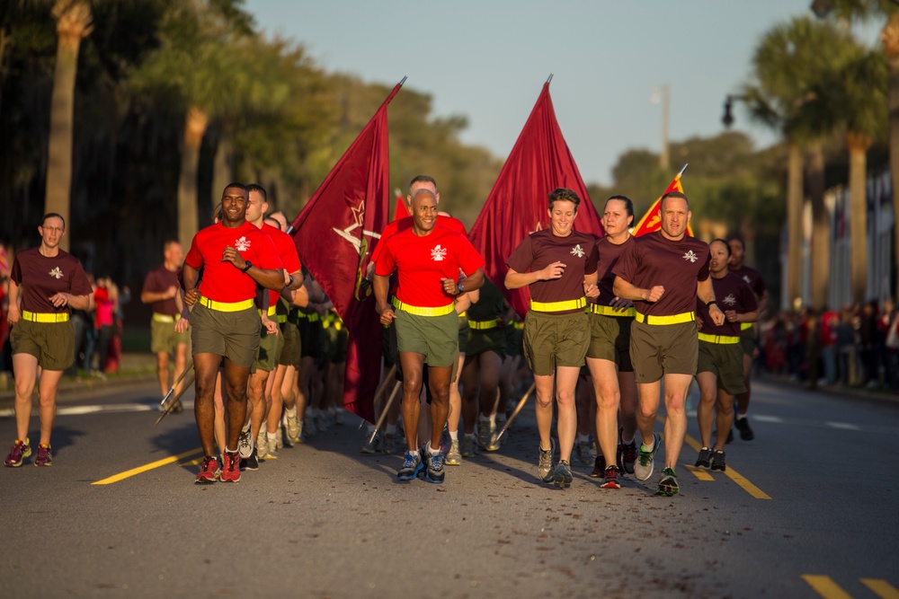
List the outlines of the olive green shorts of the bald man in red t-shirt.
{"type": "Polygon", "coordinates": [[[458,314],[416,316],[396,310],[396,348],[423,354],[428,366],[458,364],[458,314]]]}

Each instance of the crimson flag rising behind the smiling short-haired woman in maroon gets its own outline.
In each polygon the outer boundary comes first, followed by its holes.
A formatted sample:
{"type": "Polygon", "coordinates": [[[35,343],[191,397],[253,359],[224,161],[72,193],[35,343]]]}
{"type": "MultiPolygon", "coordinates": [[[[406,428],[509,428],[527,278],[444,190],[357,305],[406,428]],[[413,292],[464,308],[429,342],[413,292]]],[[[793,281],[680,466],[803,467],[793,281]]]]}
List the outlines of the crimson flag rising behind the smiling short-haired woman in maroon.
{"type": "Polygon", "coordinates": [[[530,290],[528,287],[509,290],[503,286],[508,271],[505,260],[525,236],[549,226],[547,197],[560,187],[572,189],[581,198],[574,230],[597,237],[605,234],[600,215],[590,201],[581,173],[562,137],[547,81],[468,233],[484,257],[485,275],[503,290],[509,304],[521,316],[528,311],[530,290]]]}

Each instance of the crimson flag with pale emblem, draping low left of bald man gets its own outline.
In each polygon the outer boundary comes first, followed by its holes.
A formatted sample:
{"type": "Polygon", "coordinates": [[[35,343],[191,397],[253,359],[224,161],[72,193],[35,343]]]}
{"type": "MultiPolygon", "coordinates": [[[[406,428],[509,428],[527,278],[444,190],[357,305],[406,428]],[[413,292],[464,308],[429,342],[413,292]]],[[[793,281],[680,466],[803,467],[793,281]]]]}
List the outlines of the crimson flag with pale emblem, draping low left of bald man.
{"type": "Polygon", "coordinates": [[[404,82],[405,77],[291,224],[300,259],[349,331],[343,406],[369,422],[375,421],[382,327],[364,277],[371,249],[387,225],[387,104],[404,82]]]}

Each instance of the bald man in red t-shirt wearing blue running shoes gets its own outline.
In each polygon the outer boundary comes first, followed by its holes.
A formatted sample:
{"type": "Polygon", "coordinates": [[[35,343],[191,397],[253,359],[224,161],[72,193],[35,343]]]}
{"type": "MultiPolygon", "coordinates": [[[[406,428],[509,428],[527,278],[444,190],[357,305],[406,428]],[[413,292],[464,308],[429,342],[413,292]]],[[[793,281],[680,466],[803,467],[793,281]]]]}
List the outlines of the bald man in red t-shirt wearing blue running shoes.
{"type": "Polygon", "coordinates": [[[412,196],[413,226],[384,244],[375,265],[374,292],[385,325],[396,325],[396,345],[403,367],[403,422],[408,452],[399,480],[444,479],[441,434],[449,415],[449,387],[458,360],[458,316],[454,298],[484,284],[484,259],[463,235],[437,225],[437,195],[427,188],[412,196]],[[458,283],[459,270],[467,275],[458,283]],[[396,271],[393,304],[388,304],[389,277],[396,271]],[[396,308],[396,310],[394,309],[396,308]],[[419,397],[424,364],[432,392],[431,442],[418,445],[419,397]]]}

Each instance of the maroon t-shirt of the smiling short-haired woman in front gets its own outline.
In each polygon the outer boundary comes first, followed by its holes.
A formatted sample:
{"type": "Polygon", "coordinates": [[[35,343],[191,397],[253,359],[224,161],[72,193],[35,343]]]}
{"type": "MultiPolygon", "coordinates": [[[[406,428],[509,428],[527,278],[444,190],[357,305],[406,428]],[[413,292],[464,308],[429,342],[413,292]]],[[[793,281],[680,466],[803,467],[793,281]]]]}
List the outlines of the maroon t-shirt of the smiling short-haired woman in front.
{"type": "MultiPolygon", "coordinates": [[[[535,302],[566,302],[583,297],[583,276],[596,272],[596,239],[577,231],[556,237],[551,228],[543,229],[521,240],[506,266],[523,273],[545,269],[558,261],[565,264],[562,277],[530,284],[530,297],[535,302]]],[[[583,312],[583,308],[559,313],[574,312],[583,312]]]]}

